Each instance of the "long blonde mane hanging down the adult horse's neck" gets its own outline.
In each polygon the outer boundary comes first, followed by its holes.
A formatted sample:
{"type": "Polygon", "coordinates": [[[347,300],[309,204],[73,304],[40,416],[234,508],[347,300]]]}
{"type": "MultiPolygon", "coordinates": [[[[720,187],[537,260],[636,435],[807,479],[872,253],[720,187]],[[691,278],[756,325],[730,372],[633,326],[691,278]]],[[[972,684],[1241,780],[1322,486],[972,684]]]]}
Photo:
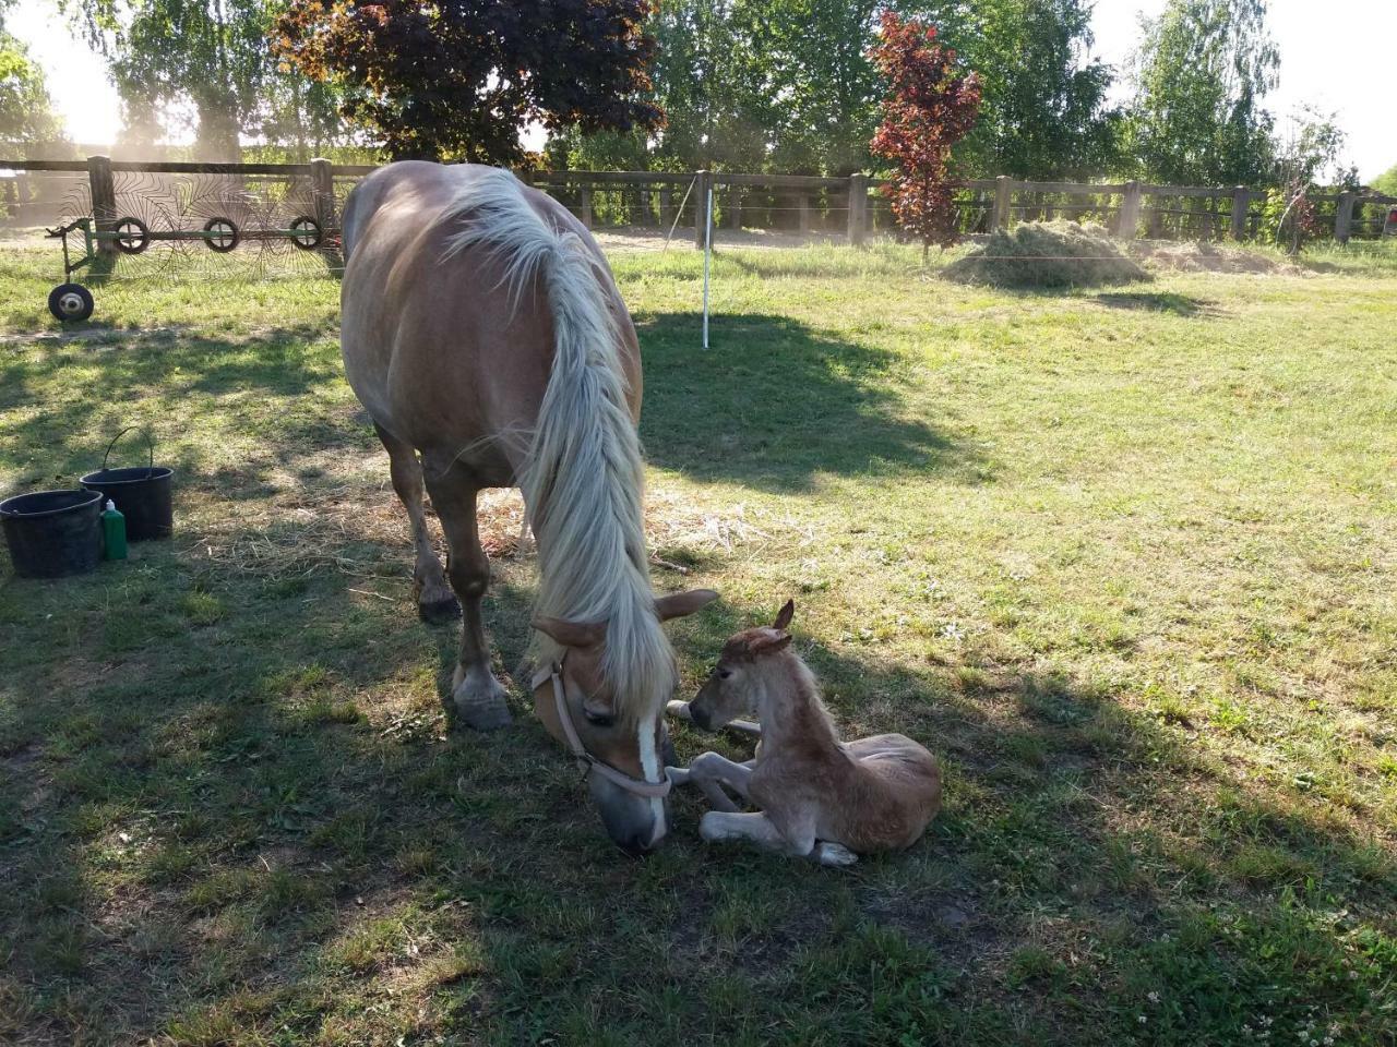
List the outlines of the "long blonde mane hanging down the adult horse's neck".
{"type": "MultiPolygon", "coordinates": [[[[545,221],[506,170],[472,179],[448,211],[464,228],[447,254],[485,248],[515,307],[529,285],[553,320],[553,369],[518,477],[538,539],[536,616],[606,623],[602,671],[617,719],[659,715],[678,680],[655,616],[643,517],[645,468],[626,401],[604,262],[583,237],[545,221]]],[[[562,648],[535,634],[546,664],[562,648]]]]}

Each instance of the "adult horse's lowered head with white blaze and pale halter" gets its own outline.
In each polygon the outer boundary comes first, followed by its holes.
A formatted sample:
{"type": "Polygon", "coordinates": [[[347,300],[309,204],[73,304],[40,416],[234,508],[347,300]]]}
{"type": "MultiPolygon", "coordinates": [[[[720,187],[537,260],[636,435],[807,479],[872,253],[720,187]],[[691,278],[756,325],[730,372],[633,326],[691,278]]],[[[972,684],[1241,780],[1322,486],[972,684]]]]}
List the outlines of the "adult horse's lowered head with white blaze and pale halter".
{"type": "MultiPolygon", "coordinates": [[[[659,621],[718,599],[711,589],[661,596],[659,621]]],[[[608,678],[606,623],[535,618],[534,628],[563,648],[534,678],[534,712],[543,727],[585,766],[587,786],[612,840],[627,854],[654,850],[669,826],[672,764],[664,711],[669,694],[645,695],[641,709],[620,708],[608,678]]]]}

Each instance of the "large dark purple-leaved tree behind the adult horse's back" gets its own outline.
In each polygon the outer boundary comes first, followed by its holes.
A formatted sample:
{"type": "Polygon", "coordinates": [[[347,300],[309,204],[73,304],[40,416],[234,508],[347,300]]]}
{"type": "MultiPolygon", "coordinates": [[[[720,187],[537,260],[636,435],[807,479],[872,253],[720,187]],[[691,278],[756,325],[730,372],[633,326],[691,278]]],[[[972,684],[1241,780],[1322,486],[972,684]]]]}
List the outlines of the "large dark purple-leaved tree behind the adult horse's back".
{"type": "Polygon", "coordinates": [[[650,128],[650,0],[291,0],[278,53],[394,158],[524,159],[529,123],[650,128]]]}

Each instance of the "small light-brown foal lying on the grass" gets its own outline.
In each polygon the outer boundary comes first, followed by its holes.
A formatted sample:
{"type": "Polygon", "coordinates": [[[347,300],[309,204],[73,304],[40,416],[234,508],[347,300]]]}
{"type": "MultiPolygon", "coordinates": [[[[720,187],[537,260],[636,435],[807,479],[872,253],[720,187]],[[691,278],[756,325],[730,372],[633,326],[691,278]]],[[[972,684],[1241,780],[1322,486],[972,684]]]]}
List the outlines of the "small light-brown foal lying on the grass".
{"type": "MultiPolygon", "coordinates": [[[[703,752],[687,769],[668,771],[693,783],[717,810],[704,814],[705,840],[750,840],[760,847],[851,866],[856,854],[904,850],[942,805],[936,757],[901,734],[840,741],[814,677],[791,651],[788,602],[771,628],[738,632],[687,712],[704,730],[757,713],[761,743],[753,759],[733,764],[703,752]],[[743,812],[724,790],[761,808],[743,812]]],[[[671,702],[671,708],[682,702],[671,702]]]]}

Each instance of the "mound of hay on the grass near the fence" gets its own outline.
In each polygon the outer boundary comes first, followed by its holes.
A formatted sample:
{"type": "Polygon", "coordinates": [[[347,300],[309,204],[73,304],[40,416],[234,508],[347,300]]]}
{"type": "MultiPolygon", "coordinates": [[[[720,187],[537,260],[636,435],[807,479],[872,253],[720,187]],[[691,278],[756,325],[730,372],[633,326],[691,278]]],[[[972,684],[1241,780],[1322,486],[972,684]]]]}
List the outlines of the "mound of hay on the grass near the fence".
{"type": "Polygon", "coordinates": [[[1025,222],[946,267],[947,279],[996,288],[1099,288],[1147,281],[1098,225],[1025,222]]]}

